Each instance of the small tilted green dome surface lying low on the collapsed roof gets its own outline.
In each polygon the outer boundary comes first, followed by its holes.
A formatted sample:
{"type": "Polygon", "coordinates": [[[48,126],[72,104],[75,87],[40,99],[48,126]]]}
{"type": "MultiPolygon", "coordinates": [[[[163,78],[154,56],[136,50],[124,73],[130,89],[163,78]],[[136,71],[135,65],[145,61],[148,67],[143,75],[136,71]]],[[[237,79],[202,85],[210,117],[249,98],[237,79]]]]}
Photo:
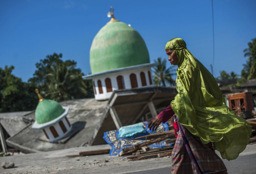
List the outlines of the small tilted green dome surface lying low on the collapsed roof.
{"type": "Polygon", "coordinates": [[[62,106],[53,100],[43,99],[35,109],[35,120],[38,124],[49,122],[60,116],[65,110],[62,106]]]}

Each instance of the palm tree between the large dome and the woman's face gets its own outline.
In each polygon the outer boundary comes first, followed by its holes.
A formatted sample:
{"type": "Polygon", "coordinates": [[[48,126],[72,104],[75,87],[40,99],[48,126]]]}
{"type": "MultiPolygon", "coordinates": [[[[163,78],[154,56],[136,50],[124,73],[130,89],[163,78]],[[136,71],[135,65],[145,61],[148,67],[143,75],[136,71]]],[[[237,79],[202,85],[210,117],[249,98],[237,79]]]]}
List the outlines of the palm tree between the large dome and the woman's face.
{"type": "Polygon", "coordinates": [[[166,83],[173,85],[175,80],[171,77],[175,73],[173,73],[173,66],[166,68],[166,60],[158,57],[157,60],[154,60],[157,63],[156,66],[153,67],[153,81],[156,86],[166,86],[166,83]]]}

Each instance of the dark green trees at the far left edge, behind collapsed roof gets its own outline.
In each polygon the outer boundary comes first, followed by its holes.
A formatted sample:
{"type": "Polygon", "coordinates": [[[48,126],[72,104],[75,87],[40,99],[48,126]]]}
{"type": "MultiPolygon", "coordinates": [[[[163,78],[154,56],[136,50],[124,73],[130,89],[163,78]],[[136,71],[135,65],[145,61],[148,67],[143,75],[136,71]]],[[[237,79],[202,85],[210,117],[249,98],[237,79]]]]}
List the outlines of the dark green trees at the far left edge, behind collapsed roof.
{"type": "Polygon", "coordinates": [[[35,86],[11,74],[14,66],[0,68],[0,112],[35,109],[38,99],[35,86]]]}

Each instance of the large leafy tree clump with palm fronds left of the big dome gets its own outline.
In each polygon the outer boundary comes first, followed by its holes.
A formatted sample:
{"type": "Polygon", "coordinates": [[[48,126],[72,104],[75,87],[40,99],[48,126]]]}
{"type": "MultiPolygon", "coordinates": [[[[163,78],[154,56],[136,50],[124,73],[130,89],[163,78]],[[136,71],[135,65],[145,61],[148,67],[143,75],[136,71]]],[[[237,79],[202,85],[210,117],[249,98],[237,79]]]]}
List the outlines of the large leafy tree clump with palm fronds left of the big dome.
{"type": "Polygon", "coordinates": [[[76,62],[63,61],[61,57],[61,53],[53,53],[41,59],[29,81],[38,85],[45,97],[56,101],[92,97],[92,84],[82,79],[83,73],[75,68],[76,62]]]}

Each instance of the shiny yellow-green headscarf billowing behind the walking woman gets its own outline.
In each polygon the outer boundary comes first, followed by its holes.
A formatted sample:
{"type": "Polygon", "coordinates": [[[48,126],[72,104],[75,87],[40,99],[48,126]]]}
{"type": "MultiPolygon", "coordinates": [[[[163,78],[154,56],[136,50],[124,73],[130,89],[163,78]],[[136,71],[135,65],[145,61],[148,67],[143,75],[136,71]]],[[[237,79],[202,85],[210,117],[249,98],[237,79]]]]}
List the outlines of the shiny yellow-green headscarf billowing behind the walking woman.
{"type": "Polygon", "coordinates": [[[213,142],[222,158],[235,159],[249,142],[250,124],[226,106],[215,78],[183,39],[169,40],[165,49],[174,50],[178,58],[178,94],[170,103],[178,122],[203,143],[213,142]]]}

